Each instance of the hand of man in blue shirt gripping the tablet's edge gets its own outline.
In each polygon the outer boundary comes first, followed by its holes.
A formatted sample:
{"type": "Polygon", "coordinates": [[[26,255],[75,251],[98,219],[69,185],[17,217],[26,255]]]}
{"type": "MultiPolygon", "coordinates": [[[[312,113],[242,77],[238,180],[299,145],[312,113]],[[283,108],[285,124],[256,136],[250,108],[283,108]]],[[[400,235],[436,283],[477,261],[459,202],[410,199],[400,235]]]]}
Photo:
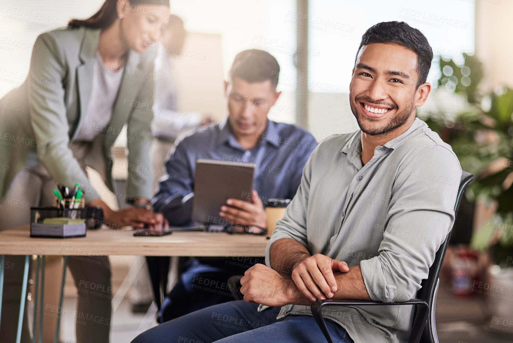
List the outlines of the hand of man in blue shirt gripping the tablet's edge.
{"type": "Polygon", "coordinates": [[[261,228],[267,227],[267,215],[262,200],[255,190],[251,194],[251,203],[230,198],[226,200],[226,205],[221,206],[219,215],[232,223],[233,226],[255,225],[261,228]]]}

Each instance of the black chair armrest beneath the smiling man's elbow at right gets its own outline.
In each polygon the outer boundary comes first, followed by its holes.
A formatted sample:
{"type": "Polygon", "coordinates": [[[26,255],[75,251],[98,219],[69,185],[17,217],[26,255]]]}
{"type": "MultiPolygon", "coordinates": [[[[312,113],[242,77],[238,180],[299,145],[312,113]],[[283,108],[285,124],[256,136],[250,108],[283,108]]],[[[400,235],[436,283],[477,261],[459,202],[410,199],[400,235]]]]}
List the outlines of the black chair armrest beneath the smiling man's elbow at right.
{"type": "Polygon", "coordinates": [[[417,306],[417,314],[413,318],[413,325],[411,327],[410,338],[408,339],[408,343],[419,343],[420,338],[422,336],[422,331],[424,330],[424,325],[426,324],[426,319],[428,315],[428,305],[427,302],[422,299],[410,299],[408,301],[401,302],[381,302],[381,301],[372,301],[372,300],[359,300],[359,299],[325,299],[325,300],[315,300],[310,305],[310,311],[312,312],[312,316],[317,321],[317,325],[321,329],[324,337],[328,343],[334,343],[331,335],[329,334],[328,328],[326,327],[326,323],[324,322],[324,318],[322,316],[322,308],[325,306],[392,306],[392,305],[416,305],[417,306]]]}

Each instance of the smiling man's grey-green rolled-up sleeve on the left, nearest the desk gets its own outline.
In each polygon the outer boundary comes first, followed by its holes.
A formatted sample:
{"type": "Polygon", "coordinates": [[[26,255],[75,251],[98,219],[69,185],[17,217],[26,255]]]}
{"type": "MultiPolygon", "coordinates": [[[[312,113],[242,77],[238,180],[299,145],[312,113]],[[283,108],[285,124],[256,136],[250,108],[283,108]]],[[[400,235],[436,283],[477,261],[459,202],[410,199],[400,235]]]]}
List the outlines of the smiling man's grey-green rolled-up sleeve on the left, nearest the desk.
{"type": "Polygon", "coordinates": [[[276,222],[271,239],[269,240],[269,243],[267,243],[267,247],[265,249],[265,264],[268,267],[270,267],[269,251],[271,245],[278,239],[292,238],[299,241],[299,243],[308,249],[306,216],[308,209],[308,193],[310,192],[311,166],[313,164],[312,159],[314,159],[314,156],[315,151],[310,155],[305,167],[303,168],[301,184],[299,185],[298,191],[287,206],[283,218],[276,222]]]}

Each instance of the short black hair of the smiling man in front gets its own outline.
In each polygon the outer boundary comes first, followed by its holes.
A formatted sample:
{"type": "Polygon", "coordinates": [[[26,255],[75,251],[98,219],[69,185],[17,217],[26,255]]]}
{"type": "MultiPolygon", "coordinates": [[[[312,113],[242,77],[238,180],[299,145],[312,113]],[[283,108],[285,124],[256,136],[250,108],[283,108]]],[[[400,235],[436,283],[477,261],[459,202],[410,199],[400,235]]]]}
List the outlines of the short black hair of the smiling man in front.
{"type": "Polygon", "coordinates": [[[371,26],[362,36],[356,58],[358,58],[360,49],[371,43],[397,44],[415,52],[417,54],[417,74],[419,74],[417,88],[426,82],[433,59],[433,50],[429,46],[426,36],[418,29],[412,28],[405,22],[383,22],[371,26]]]}

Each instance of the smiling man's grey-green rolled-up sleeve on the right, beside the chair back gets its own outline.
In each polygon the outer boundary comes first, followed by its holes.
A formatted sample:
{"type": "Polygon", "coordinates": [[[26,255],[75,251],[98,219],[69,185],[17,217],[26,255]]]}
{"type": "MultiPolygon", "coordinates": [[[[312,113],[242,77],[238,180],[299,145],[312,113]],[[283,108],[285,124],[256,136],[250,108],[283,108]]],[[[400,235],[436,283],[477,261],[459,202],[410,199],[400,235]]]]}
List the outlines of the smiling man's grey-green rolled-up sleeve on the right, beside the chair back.
{"type": "Polygon", "coordinates": [[[454,223],[460,178],[456,156],[439,145],[423,148],[400,166],[379,255],[360,263],[372,300],[415,296],[454,223]]]}

